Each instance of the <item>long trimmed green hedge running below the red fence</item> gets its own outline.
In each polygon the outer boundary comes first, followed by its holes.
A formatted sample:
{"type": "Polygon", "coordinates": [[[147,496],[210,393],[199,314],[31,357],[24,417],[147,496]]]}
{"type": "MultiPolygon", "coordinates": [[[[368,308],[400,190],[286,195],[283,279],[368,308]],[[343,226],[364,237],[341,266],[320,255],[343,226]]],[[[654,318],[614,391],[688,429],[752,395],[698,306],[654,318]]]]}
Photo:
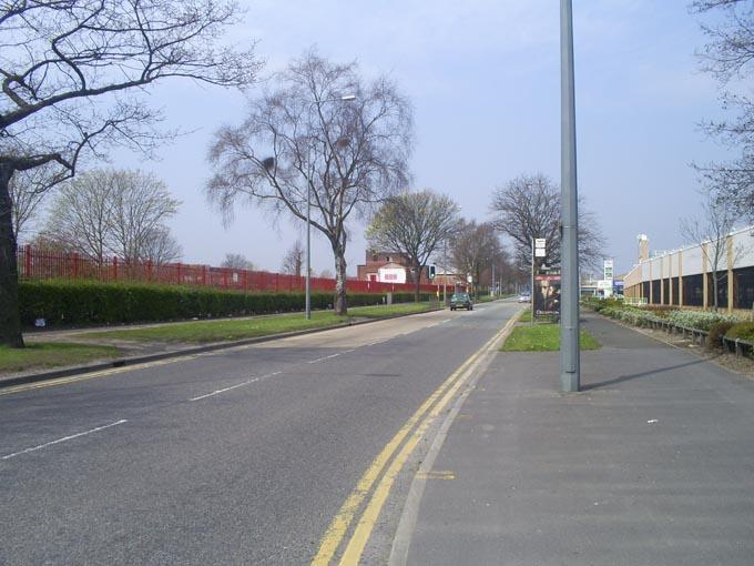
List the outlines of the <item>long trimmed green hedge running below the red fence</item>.
{"type": "MultiPolygon", "coordinates": [[[[374,305],[384,295],[348,294],[349,306],[374,305]]],[[[312,293],[312,309],[328,309],[332,293],[312,293]]],[[[177,285],[99,283],[86,281],[19,282],[21,320],[32,326],[45,319],[48,326],[118,324],[273,314],[303,311],[304,293],[243,293],[177,285]]],[[[421,301],[429,300],[424,293],[421,301]]],[[[396,303],[414,301],[414,293],[394,293],[396,303]]]]}

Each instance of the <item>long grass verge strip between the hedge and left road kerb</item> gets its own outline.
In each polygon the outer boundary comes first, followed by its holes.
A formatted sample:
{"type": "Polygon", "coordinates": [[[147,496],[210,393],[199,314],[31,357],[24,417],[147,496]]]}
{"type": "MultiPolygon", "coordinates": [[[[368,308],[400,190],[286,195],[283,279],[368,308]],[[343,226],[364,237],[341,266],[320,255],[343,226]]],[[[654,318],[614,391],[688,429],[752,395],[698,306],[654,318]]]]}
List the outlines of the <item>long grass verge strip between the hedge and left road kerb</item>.
{"type": "Polygon", "coordinates": [[[348,316],[336,316],[332,311],[315,311],[306,320],[304,313],[258,316],[245,320],[195,321],[164,324],[144,329],[124,329],[81,334],[89,338],[116,338],[134,342],[208,343],[243,340],[283,332],[326,329],[347,323],[353,319],[381,319],[396,314],[412,314],[430,310],[429,303],[407,303],[390,306],[357,306],[348,316]]]}

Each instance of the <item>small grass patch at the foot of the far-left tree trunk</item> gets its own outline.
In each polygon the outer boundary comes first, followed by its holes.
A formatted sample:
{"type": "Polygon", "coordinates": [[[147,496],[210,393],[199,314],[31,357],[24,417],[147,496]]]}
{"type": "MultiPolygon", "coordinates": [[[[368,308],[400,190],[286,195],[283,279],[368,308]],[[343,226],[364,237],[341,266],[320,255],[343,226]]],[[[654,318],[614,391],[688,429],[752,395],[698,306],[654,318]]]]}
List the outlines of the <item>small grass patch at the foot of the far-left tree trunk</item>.
{"type": "Polygon", "coordinates": [[[120,351],[113,346],[63,342],[34,342],[23,348],[0,346],[0,372],[75,365],[92,360],[115,357],[119,354],[120,351]]]}

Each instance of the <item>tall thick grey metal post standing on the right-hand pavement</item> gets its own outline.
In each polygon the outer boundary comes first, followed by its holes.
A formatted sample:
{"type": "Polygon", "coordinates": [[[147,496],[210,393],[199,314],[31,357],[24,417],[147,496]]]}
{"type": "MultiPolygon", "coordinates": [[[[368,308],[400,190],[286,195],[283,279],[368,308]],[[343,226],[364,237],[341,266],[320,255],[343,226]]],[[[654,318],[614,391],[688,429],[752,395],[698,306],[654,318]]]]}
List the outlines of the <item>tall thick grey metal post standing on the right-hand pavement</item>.
{"type": "Polygon", "coordinates": [[[579,198],[575,170],[575,98],[573,78],[573,7],[560,0],[561,69],[561,293],[560,384],[562,391],[580,386],[579,351],[579,198]]]}

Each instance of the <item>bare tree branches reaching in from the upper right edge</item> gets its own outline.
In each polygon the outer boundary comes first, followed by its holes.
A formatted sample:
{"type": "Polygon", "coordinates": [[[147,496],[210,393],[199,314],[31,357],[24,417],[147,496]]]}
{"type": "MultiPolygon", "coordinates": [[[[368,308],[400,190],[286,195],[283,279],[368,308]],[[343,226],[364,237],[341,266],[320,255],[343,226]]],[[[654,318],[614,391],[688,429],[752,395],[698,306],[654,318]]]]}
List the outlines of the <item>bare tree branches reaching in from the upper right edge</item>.
{"type": "Polygon", "coordinates": [[[744,0],[696,0],[692,12],[712,13],[702,22],[709,43],[699,52],[702,70],[722,85],[721,102],[734,112],[730,120],[703,122],[704,131],[740,151],[727,162],[694,164],[716,198],[727,199],[737,212],[754,220],[754,6],[744,0]],[[740,88],[741,87],[741,88],[740,88]]]}

